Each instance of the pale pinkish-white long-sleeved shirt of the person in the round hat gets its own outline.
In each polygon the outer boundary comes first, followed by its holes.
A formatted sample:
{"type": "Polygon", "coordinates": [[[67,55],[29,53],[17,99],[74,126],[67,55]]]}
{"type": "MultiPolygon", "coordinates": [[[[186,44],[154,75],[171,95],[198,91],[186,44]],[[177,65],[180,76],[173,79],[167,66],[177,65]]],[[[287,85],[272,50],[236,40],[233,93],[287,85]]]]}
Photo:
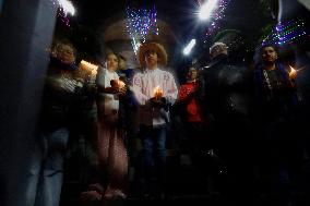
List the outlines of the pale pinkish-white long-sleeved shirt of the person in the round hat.
{"type": "Polygon", "coordinates": [[[140,123],[145,125],[162,125],[168,121],[168,112],[163,108],[153,108],[147,100],[154,97],[154,88],[159,86],[164,97],[171,105],[178,96],[178,88],[171,73],[159,69],[145,70],[133,76],[132,89],[140,104],[140,123]]]}

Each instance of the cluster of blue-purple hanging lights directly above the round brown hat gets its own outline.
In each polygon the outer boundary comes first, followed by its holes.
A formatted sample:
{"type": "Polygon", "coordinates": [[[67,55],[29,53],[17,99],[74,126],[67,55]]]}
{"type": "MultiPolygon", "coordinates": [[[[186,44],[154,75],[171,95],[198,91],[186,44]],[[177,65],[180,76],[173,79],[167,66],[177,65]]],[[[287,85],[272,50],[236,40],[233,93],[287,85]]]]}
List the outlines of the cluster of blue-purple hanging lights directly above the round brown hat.
{"type": "Polygon", "coordinates": [[[133,51],[136,54],[138,48],[145,43],[147,35],[158,35],[157,11],[155,4],[151,9],[126,8],[127,31],[131,38],[133,51]]]}

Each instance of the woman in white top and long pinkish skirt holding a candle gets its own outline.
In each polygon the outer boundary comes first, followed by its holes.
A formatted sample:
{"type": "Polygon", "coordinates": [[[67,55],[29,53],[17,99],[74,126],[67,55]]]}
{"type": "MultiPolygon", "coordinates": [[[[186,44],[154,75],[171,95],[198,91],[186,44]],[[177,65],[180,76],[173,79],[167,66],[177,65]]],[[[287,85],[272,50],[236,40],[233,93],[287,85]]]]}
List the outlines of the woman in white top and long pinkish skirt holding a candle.
{"type": "Polygon", "coordinates": [[[128,157],[124,133],[118,122],[119,98],[126,94],[126,85],[116,73],[118,62],[116,53],[108,53],[105,68],[97,73],[97,148],[98,167],[104,174],[104,199],[127,196],[128,157]]]}

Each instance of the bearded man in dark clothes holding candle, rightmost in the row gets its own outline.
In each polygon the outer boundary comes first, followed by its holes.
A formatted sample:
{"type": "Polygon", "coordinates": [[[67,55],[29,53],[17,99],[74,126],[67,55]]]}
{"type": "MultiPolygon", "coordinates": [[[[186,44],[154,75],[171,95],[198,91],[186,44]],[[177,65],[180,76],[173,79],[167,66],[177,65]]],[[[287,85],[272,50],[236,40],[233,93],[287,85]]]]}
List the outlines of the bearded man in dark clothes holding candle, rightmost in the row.
{"type": "Polygon", "coordinates": [[[298,162],[296,111],[298,106],[296,71],[278,58],[274,45],[260,48],[254,68],[254,124],[259,147],[261,192],[287,197],[298,162]],[[291,130],[293,129],[293,130],[291,130]],[[260,153],[263,150],[263,153],[260,153]],[[285,192],[285,193],[284,193],[285,192]]]}

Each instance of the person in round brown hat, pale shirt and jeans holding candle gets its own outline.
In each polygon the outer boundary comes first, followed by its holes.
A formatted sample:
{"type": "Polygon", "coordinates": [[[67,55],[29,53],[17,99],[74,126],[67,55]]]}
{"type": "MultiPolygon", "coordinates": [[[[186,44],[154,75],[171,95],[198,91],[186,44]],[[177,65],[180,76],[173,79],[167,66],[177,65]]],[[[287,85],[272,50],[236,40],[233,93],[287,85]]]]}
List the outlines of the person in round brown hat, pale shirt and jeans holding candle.
{"type": "Polygon", "coordinates": [[[167,64],[165,48],[157,43],[142,44],[138,52],[143,71],[133,76],[133,93],[139,102],[140,134],[143,146],[144,195],[165,195],[166,134],[168,105],[178,96],[175,77],[167,64]],[[152,175],[154,174],[154,177],[152,175]],[[152,182],[152,179],[155,181],[152,182]]]}

